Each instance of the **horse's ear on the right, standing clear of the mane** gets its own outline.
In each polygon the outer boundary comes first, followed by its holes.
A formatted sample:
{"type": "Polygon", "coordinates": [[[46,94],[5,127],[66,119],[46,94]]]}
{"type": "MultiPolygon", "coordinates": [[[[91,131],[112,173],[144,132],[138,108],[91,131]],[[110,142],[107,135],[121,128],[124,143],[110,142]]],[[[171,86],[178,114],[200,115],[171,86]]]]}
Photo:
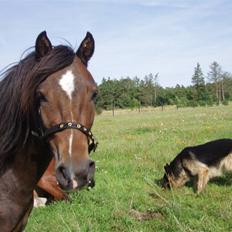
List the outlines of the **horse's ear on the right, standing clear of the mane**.
{"type": "Polygon", "coordinates": [[[85,38],[77,49],[76,55],[81,59],[82,63],[87,66],[88,61],[94,53],[95,42],[92,34],[87,32],[85,38]]]}

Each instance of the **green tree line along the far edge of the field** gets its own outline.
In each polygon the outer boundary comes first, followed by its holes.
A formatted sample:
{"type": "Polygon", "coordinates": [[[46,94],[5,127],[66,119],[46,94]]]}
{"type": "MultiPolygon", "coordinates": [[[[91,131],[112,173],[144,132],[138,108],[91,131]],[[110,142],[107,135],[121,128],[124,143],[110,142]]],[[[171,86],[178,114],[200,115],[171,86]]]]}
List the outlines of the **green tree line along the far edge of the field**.
{"type": "Polygon", "coordinates": [[[158,78],[159,73],[155,75],[150,73],[143,79],[103,78],[98,86],[97,110],[140,109],[165,105],[212,106],[228,104],[228,101],[232,100],[232,75],[223,71],[216,61],[210,64],[206,75],[197,63],[191,78],[192,85],[187,87],[177,84],[175,87],[164,88],[159,84],[158,78]]]}

